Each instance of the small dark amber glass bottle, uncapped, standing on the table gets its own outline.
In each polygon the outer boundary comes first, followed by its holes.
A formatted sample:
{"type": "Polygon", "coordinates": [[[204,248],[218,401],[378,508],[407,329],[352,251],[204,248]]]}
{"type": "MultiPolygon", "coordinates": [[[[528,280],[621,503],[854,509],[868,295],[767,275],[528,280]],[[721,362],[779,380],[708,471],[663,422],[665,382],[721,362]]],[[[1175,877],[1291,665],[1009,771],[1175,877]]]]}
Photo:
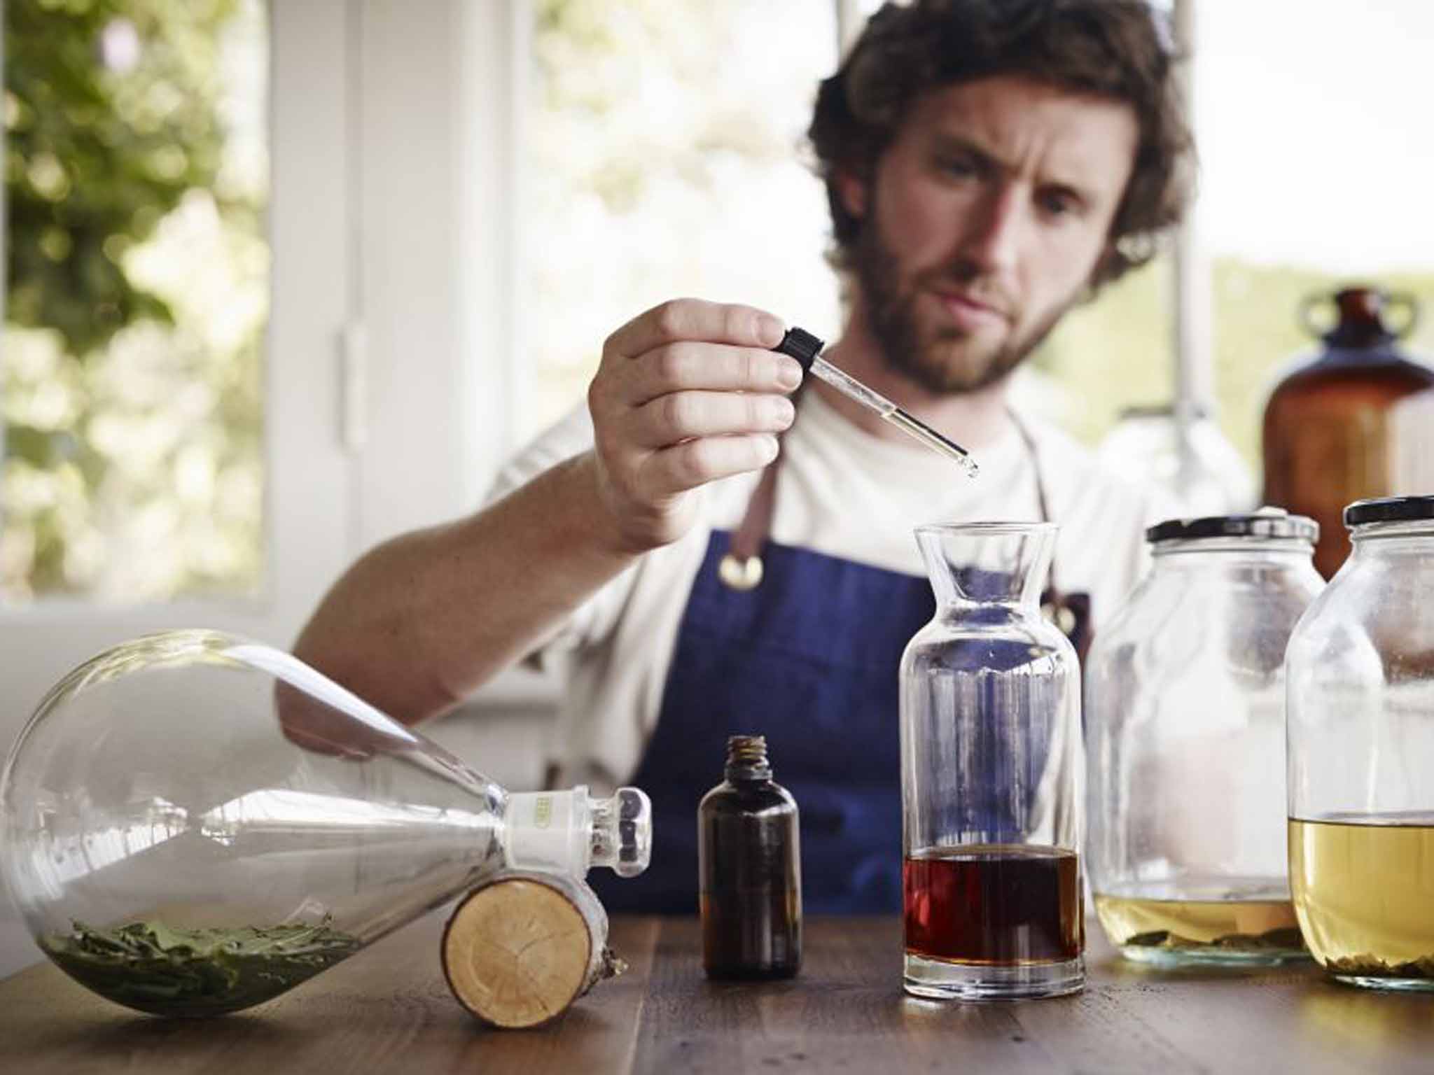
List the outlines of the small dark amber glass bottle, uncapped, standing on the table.
{"type": "Polygon", "coordinates": [[[708,978],[792,978],[802,966],[797,804],[771,780],[761,735],[727,740],[726,780],[697,808],[708,978]]]}

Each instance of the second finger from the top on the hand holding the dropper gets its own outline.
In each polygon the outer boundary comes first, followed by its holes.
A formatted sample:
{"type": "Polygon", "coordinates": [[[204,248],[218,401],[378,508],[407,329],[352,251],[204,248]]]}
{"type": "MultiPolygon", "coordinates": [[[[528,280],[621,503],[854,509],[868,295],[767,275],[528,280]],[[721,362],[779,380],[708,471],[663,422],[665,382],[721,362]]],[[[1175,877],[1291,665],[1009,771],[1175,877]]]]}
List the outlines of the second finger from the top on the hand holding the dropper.
{"type": "Polygon", "coordinates": [[[784,354],[690,341],[654,348],[628,363],[621,374],[622,394],[634,407],[693,388],[789,393],[802,383],[800,363],[784,354]]]}

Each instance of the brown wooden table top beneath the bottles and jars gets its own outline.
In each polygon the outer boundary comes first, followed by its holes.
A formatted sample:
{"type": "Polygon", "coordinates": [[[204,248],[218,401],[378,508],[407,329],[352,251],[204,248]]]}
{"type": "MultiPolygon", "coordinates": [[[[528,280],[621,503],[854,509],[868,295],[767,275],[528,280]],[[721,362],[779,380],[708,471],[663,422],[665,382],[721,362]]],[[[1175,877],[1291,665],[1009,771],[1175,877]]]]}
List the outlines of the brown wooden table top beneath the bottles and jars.
{"type": "Polygon", "coordinates": [[[938,1003],[901,990],[895,919],[806,923],[802,975],[714,983],[693,919],[619,917],[630,960],[558,1022],[488,1031],[439,970],[446,912],[239,1015],[143,1016],[44,963],[0,982],[0,1072],[1430,1072],[1434,996],[1318,969],[1157,972],[1090,923],[1084,993],[938,1003]]]}

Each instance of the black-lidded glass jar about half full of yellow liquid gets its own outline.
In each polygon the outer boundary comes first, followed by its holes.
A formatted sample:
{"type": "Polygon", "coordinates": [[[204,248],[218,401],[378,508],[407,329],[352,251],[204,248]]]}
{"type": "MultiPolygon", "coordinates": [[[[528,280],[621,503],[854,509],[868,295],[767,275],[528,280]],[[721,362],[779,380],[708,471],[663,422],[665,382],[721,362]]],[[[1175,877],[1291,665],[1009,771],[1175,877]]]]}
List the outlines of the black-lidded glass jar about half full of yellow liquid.
{"type": "Polygon", "coordinates": [[[1434,990],[1434,496],[1345,509],[1289,639],[1289,879],[1335,978],[1434,990]]]}

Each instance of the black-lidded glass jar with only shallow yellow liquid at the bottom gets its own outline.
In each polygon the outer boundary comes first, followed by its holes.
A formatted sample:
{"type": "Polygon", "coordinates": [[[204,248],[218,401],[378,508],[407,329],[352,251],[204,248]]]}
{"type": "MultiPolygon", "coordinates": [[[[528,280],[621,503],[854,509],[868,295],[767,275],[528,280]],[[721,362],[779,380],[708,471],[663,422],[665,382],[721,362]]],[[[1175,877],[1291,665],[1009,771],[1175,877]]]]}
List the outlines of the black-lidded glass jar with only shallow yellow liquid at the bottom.
{"type": "Polygon", "coordinates": [[[1285,856],[1285,645],[1324,579],[1279,509],[1152,526],[1086,665],[1091,892],[1126,957],[1304,959],[1285,856]]]}

